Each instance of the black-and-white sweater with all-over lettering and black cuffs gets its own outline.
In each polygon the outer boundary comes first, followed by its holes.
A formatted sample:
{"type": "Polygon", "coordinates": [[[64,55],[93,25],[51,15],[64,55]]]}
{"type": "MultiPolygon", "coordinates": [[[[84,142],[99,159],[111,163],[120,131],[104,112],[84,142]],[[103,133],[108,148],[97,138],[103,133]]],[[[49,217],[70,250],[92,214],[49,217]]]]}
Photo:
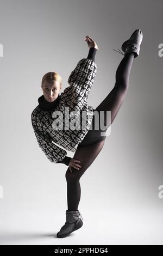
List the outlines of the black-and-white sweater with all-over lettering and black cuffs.
{"type": "MultiPolygon", "coordinates": [[[[90,129],[93,107],[87,105],[87,96],[90,93],[97,73],[97,64],[95,63],[96,48],[90,48],[87,58],[79,60],[76,68],[68,77],[70,86],[64,89],[53,102],[45,100],[44,96],[38,99],[39,105],[31,114],[32,126],[39,147],[47,156],[47,159],[53,163],[65,163],[67,166],[71,157],[67,157],[68,151],[76,151],[80,142],[84,139],[90,129]],[[75,130],[57,130],[54,124],[54,111],[62,112],[62,118],[66,117],[65,107],[68,107],[69,113],[76,111],[80,117],[82,112],[86,113],[86,129],[75,130]],[[65,148],[66,150],[59,147],[65,148]]],[[[60,118],[60,117],[59,117],[60,118]]],[[[74,117],[73,117],[74,118],[74,117]]],[[[59,119],[60,120],[60,119],[59,119]]],[[[71,118],[69,119],[71,121],[71,118]]]]}

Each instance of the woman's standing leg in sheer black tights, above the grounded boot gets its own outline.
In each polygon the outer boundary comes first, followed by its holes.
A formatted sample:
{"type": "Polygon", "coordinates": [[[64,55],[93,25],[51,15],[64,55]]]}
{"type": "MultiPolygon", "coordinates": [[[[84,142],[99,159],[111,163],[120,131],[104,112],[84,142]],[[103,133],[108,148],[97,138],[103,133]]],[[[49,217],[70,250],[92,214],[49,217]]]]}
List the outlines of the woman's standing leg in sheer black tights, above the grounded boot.
{"type": "Polygon", "coordinates": [[[92,145],[79,146],[77,147],[76,153],[73,158],[80,160],[82,168],[79,170],[72,168],[72,173],[68,167],[65,177],[67,181],[67,205],[68,211],[77,211],[80,201],[80,178],[84,174],[85,170],[89,168],[92,162],[96,159],[98,154],[103,148],[104,141],[98,142],[92,145]]]}

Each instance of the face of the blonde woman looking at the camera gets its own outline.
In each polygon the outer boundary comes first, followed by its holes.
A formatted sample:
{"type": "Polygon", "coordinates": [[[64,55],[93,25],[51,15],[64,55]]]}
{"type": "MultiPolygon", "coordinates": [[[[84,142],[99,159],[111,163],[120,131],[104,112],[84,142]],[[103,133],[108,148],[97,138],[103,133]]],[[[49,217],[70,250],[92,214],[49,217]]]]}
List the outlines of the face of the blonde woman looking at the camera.
{"type": "Polygon", "coordinates": [[[43,96],[48,102],[53,102],[57,99],[61,86],[58,81],[47,82],[46,80],[42,84],[43,96]]]}

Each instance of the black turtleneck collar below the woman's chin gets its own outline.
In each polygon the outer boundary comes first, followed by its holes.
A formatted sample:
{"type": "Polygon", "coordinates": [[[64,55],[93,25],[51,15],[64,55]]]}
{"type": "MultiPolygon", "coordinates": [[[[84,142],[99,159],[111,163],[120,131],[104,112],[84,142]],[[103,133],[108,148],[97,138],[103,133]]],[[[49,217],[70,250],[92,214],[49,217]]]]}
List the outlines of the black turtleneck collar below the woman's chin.
{"type": "Polygon", "coordinates": [[[60,94],[58,95],[57,99],[55,99],[53,102],[48,102],[45,97],[42,95],[39,97],[39,108],[44,111],[51,111],[53,110],[59,103],[60,94]]]}

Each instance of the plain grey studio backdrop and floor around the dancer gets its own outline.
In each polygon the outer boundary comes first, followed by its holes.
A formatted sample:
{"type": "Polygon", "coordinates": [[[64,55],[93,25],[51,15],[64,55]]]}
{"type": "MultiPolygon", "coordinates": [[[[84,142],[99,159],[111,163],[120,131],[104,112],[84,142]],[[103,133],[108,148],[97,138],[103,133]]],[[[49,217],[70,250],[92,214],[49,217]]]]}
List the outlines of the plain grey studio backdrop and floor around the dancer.
{"type": "MultiPolygon", "coordinates": [[[[0,1],[1,244],[162,244],[162,1],[0,1]],[[48,161],[30,115],[48,71],[62,90],[78,61],[87,57],[85,36],[99,47],[97,76],[88,98],[96,107],[115,84],[121,48],[135,29],[143,32],[129,89],[111,135],[80,179],[84,225],[65,239],[65,164],[48,161]],[[96,225],[95,225],[96,223],[96,225]]],[[[74,153],[67,151],[67,156],[74,153]]]]}

